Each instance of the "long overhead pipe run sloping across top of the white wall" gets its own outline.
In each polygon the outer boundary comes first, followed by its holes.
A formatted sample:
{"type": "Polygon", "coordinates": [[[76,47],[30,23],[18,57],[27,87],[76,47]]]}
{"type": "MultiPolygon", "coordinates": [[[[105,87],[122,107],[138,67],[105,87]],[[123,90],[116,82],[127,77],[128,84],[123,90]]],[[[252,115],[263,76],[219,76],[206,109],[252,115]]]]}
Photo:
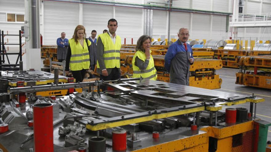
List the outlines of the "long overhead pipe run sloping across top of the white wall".
{"type": "MultiPolygon", "coordinates": [[[[151,10],[163,10],[168,11],[168,7],[164,6],[150,6],[141,4],[129,4],[129,3],[119,3],[119,2],[106,2],[106,1],[94,1],[87,0],[82,1],[67,1],[67,0],[43,0],[51,2],[67,2],[67,3],[78,3],[78,4],[91,4],[91,5],[101,5],[101,6],[115,6],[115,7],[127,7],[136,9],[151,9],[151,10]],[[126,6],[123,6],[126,5],[126,6]]],[[[232,13],[215,12],[215,11],[205,11],[205,10],[194,10],[194,9],[183,9],[183,8],[171,8],[172,12],[184,12],[184,13],[195,13],[195,14],[208,14],[208,15],[218,15],[218,16],[228,16],[232,13]]]]}

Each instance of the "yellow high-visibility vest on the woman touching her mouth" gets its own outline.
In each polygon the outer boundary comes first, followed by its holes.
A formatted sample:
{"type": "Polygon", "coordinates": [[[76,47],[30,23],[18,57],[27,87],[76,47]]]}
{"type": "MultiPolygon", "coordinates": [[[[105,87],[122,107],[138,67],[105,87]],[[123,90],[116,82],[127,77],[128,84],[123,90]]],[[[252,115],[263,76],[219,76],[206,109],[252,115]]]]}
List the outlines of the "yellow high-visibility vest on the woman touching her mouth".
{"type": "MultiPolygon", "coordinates": [[[[152,51],[150,50],[150,53],[152,51]]],[[[140,78],[140,76],[142,78],[145,79],[150,79],[150,80],[156,80],[157,78],[157,72],[156,72],[156,68],[154,67],[154,60],[152,58],[152,55],[150,56],[150,60],[149,60],[149,64],[148,67],[145,70],[140,70],[140,68],[138,66],[135,65],[136,62],[136,57],[138,57],[140,60],[145,61],[146,60],[146,55],[144,52],[138,50],[136,51],[134,57],[133,57],[133,77],[134,78],[140,78]]]]}

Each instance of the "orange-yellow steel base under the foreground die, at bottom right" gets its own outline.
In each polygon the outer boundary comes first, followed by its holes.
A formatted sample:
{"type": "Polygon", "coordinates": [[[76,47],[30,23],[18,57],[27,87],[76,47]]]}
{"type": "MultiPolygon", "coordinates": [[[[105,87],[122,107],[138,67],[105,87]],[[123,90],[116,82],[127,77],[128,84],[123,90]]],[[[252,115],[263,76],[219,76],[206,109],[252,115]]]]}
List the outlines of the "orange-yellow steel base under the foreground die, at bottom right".
{"type": "MultiPolygon", "coordinates": [[[[205,133],[198,134],[199,131],[195,131],[193,136],[134,150],[133,152],[208,152],[209,137],[217,139],[217,152],[252,151],[253,138],[255,138],[253,125],[254,121],[248,121],[226,127],[203,127],[200,131],[205,131],[205,133]],[[240,142],[240,145],[233,146],[233,142],[236,142],[234,138],[238,135],[241,135],[240,139],[242,142],[240,142]]],[[[191,132],[193,134],[193,131],[191,132]]]]}

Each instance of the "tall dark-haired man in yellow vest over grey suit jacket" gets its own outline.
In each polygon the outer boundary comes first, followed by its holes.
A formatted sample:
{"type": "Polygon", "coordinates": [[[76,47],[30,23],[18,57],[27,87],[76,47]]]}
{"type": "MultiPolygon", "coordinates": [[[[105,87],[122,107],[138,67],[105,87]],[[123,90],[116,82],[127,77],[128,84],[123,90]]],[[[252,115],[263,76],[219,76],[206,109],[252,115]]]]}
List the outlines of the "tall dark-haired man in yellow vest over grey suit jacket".
{"type": "Polygon", "coordinates": [[[112,18],[107,27],[109,32],[100,34],[97,40],[97,72],[105,81],[120,78],[121,38],[115,33],[118,22],[112,18]]]}

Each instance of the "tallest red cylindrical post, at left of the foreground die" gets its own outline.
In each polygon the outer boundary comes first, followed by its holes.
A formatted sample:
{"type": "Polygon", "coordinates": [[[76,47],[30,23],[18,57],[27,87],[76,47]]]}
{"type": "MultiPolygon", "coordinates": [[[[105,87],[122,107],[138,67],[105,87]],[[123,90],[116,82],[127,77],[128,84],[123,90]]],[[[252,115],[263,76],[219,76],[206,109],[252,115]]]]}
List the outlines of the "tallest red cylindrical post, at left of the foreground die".
{"type": "Polygon", "coordinates": [[[51,103],[39,103],[33,107],[34,150],[38,152],[53,152],[53,105],[51,103]]]}

